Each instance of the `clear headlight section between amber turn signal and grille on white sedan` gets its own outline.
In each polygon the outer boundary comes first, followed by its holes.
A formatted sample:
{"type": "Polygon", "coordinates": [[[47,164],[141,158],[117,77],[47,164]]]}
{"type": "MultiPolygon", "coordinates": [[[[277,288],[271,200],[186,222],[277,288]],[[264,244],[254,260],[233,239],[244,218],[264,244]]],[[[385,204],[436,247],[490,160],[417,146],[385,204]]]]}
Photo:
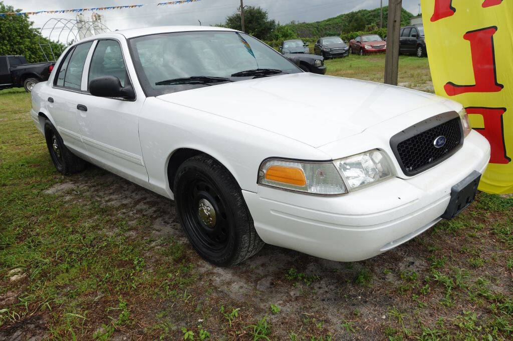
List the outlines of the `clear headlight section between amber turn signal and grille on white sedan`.
{"type": "Polygon", "coordinates": [[[386,155],[376,149],[335,160],[333,163],[344,176],[349,189],[356,189],[393,176],[392,167],[386,155]]]}

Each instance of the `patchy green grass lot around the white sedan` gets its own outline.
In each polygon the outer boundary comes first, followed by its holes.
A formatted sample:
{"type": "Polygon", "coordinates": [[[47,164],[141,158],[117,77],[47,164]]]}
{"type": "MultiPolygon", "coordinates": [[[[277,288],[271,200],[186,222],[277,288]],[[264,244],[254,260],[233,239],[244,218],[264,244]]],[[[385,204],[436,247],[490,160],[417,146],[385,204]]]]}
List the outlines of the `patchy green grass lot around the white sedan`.
{"type": "MultiPolygon", "coordinates": [[[[405,86],[428,79],[427,58],[400,62],[405,86]]],[[[329,74],[376,81],[383,63],[327,61],[329,74]]],[[[30,105],[21,89],[0,91],[0,338],[513,337],[511,196],[480,193],[456,219],[363,262],[266,247],[255,258],[262,265],[211,270],[188,243],[151,234],[157,218],[175,219],[168,210],[147,212],[142,199],[105,204],[108,173],[95,167],[58,174],[30,105]],[[47,192],[70,182],[76,186],[47,192]],[[21,280],[10,281],[13,269],[21,280]],[[227,275],[249,291],[233,294],[227,275]],[[272,287],[255,289],[265,276],[272,287]],[[28,332],[33,321],[41,327],[28,332]]]]}

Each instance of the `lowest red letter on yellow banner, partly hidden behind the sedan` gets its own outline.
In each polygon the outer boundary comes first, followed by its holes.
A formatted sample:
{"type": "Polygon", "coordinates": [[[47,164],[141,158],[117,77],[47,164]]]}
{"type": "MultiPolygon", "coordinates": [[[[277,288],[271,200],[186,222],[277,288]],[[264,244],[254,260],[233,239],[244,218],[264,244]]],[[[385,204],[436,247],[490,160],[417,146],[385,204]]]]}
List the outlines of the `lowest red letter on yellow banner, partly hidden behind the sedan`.
{"type": "Polygon", "coordinates": [[[465,108],[467,114],[483,116],[484,128],[475,128],[477,132],[486,137],[491,146],[490,163],[509,163],[511,159],[506,155],[504,142],[504,124],[502,114],[506,108],[485,108],[469,106],[465,108]]]}

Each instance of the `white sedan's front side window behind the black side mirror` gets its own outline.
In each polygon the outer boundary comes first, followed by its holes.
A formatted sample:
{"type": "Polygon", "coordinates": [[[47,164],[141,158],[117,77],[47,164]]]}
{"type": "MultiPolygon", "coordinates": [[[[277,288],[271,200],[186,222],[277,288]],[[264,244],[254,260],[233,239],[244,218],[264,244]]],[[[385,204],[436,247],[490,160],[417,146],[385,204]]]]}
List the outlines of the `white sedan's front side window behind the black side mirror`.
{"type": "Polygon", "coordinates": [[[88,82],[102,76],[119,78],[123,87],[128,82],[123,52],[119,42],[115,40],[100,40],[94,49],[88,82]]]}

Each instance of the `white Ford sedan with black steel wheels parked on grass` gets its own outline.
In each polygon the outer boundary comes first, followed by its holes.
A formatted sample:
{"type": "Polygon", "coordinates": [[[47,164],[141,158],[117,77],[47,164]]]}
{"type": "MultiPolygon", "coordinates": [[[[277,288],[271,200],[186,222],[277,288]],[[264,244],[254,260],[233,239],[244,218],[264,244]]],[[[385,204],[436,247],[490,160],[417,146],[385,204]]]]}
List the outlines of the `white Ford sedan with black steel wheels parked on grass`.
{"type": "Polygon", "coordinates": [[[490,156],[455,101],[302,72],[218,27],[78,41],[34,87],[30,114],[57,171],[90,162],[174,200],[219,266],[264,243],[373,257],[457,215],[490,156]]]}

